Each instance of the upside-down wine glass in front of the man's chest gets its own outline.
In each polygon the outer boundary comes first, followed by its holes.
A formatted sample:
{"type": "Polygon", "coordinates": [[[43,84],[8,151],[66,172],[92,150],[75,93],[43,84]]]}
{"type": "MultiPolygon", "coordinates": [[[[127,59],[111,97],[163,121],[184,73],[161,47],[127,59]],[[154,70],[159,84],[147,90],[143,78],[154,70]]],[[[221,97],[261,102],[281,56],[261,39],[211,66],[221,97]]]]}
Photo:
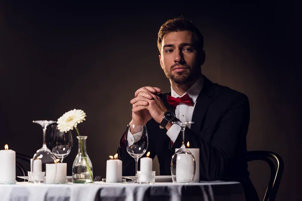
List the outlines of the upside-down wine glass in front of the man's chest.
{"type": "Polygon", "coordinates": [[[185,146],[185,129],[194,122],[172,122],[181,127],[182,144],[171,159],[171,174],[174,183],[191,183],[195,176],[196,162],[193,154],[185,146]]]}

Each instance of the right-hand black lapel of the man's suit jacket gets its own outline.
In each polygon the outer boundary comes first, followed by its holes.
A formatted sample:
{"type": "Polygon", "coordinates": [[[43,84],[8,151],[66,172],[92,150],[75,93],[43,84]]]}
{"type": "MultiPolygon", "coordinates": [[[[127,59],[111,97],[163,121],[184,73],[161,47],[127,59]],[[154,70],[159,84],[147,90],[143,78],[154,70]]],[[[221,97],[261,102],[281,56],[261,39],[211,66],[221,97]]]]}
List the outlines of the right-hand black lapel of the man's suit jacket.
{"type": "Polygon", "coordinates": [[[214,91],[212,86],[213,83],[204,76],[203,87],[196,99],[192,116],[192,122],[194,122],[194,124],[191,125],[191,130],[196,134],[200,133],[204,115],[213,101],[214,91]]]}

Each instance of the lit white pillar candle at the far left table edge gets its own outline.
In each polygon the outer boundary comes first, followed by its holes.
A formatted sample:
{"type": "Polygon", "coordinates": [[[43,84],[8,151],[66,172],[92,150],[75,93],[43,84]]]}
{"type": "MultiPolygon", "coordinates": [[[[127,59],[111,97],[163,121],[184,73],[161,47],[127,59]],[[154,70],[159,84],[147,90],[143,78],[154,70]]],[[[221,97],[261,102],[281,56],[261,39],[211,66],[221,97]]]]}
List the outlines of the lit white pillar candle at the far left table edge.
{"type": "Polygon", "coordinates": [[[16,182],[16,152],[5,145],[5,150],[0,150],[0,183],[16,182]]]}

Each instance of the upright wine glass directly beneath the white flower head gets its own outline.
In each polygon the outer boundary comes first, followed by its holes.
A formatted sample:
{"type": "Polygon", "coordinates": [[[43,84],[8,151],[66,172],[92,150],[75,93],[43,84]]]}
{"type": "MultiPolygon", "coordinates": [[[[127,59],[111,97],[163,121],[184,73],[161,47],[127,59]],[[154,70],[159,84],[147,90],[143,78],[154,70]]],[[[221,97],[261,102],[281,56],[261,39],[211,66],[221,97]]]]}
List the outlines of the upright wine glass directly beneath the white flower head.
{"type": "Polygon", "coordinates": [[[63,162],[63,159],[70,153],[72,147],[71,130],[61,132],[57,124],[51,125],[50,148],[52,153],[63,162]]]}

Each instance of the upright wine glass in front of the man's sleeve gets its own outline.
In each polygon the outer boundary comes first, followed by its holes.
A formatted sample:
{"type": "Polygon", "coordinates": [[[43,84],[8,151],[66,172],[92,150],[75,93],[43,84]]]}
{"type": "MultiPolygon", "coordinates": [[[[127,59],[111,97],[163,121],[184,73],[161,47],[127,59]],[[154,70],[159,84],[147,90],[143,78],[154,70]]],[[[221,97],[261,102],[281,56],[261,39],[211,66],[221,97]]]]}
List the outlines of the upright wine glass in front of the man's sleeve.
{"type": "Polygon", "coordinates": [[[138,159],[148,148],[148,134],[145,125],[130,125],[125,135],[125,145],[128,154],[135,160],[135,177],[132,182],[137,183],[137,163],[138,159]]]}

